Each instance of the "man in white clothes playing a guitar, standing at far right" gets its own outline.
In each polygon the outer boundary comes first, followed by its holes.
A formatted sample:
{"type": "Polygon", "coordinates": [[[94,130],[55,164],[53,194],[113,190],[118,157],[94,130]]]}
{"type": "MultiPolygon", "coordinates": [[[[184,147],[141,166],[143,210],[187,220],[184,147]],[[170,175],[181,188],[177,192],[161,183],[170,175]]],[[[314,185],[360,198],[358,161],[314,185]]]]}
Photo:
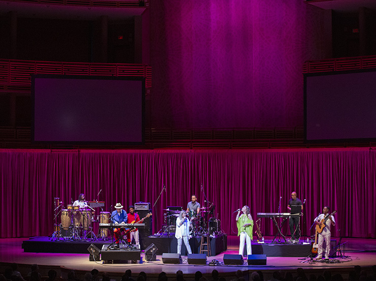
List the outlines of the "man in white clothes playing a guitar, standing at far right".
{"type": "Polygon", "coordinates": [[[329,252],[330,252],[330,226],[335,226],[334,216],[329,215],[330,208],[325,206],[323,209],[323,213],[319,215],[315,221],[318,223],[320,228],[324,227],[322,232],[319,233],[318,239],[318,254],[316,260],[321,260],[323,258],[323,243],[325,240],[326,248],[325,248],[325,260],[329,260],[329,252]]]}

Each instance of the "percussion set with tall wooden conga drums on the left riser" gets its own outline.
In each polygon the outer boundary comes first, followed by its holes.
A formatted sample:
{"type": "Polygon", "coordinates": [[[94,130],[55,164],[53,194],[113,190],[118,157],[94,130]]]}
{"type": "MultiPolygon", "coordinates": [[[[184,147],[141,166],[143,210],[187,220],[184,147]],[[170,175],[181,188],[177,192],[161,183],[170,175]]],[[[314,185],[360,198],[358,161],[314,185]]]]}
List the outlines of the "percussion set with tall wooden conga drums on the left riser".
{"type": "MultiPolygon", "coordinates": [[[[98,203],[97,205],[99,207],[98,203]]],[[[64,202],[61,202],[59,198],[54,198],[54,233],[50,236],[50,239],[98,241],[97,235],[92,231],[92,225],[97,221],[109,223],[110,212],[100,212],[96,220],[95,209],[87,203],[84,208],[73,205],[67,205],[67,208],[64,208],[64,206],[64,202]]],[[[107,229],[100,230],[99,237],[107,239],[108,236],[107,229]]]]}

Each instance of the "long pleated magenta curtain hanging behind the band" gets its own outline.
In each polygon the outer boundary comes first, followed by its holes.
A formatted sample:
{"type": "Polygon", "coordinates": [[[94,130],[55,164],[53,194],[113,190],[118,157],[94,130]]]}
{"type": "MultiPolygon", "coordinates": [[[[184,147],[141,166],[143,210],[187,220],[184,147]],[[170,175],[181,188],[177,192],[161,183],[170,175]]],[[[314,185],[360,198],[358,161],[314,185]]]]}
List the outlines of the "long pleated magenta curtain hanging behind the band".
{"type": "MultiPolygon", "coordinates": [[[[29,237],[53,232],[53,202],[66,205],[83,192],[105,201],[155,203],[153,232],[167,206],[186,207],[191,194],[216,205],[225,233],[236,229],[233,211],[249,205],[258,212],[287,211],[290,193],[306,199],[303,234],[324,205],[338,210],[334,236],[375,236],[376,155],[374,150],[0,150],[1,235],[29,237]],[[202,188],[201,188],[202,185],[202,188]],[[98,192],[102,189],[99,198],[98,192]],[[340,230],[340,231],[338,231],[340,230]]],[[[287,224],[287,223],[286,223],[287,224]]],[[[261,220],[274,235],[270,219],[261,220]]],[[[283,228],[288,233],[287,226],[283,228]]]]}

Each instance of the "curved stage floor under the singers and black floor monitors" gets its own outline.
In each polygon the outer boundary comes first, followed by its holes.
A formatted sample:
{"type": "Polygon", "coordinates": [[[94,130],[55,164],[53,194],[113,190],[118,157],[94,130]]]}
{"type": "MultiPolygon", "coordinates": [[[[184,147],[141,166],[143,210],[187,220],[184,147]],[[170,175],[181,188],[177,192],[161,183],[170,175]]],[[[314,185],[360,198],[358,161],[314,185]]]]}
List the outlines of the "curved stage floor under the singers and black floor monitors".
{"type": "MultiPolygon", "coordinates": [[[[186,279],[193,278],[194,273],[200,270],[204,275],[210,276],[213,269],[220,272],[220,276],[227,279],[232,279],[234,272],[238,269],[247,272],[255,270],[263,270],[265,279],[268,280],[275,270],[287,270],[296,272],[298,267],[304,268],[306,273],[322,274],[324,269],[331,269],[332,273],[337,271],[343,277],[347,278],[347,274],[353,270],[355,265],[361,267],[371,267],[376,264],[376,239],[342,239],[346,252],[342,254],[348,258],[333,258],[331,263],[311,262],[309,259],[297,257],[267,257],[267,265],[263,266],[248,266],[246,261],[244,265],[190,265],[187,264],[186,257],[183,258],[183,263],[179,265],[163,264],[162,256],[158,255],[156,261],[146,262],[144,254],[141,254],[141,262],[137,264],[103,264],[102,262],[90,262],[88,254],[57,254],[57,253],[34,253],[24,252],[21,244],[28,238],[14,238],[14,239],[0,239],[0,267],[4,271],[4,267],[8,263],[16,262],[20,265],[20,272],[27,274],[29,272],[29,265],[37,263],[40,265],[41,274],[46,276],[47,271],[51,268],[58,271],[61,277],[67,279],[67,272],[70,269],[75,269],[81,276],[94,268],[100,272],[110,272],[113,279],[120,280],[121,275],[128,268],[132,268],[133,276],[137,276],[139,272],[144,271],[148,276],[148,280],[154,280],[162,271],[174,276],[177,270],[182,270],[186,279]],[[318,273],[319,272],[319,273],[318,273]]],[[[266,243],[270,240],[266,240],[266,243]]],[[[228,249],[220,255],[207,257],[210,262],[213,259],[223,262],[225,254],[238,254],[238,237],[228,236],[228,249]]],[[[342,249],[342,247],[341,247],[342,249]]],[[[244,258],[245,259],[245,258],[244,258]]],[[[370,268],[369,268],[370,270],[370,268]]]]}

